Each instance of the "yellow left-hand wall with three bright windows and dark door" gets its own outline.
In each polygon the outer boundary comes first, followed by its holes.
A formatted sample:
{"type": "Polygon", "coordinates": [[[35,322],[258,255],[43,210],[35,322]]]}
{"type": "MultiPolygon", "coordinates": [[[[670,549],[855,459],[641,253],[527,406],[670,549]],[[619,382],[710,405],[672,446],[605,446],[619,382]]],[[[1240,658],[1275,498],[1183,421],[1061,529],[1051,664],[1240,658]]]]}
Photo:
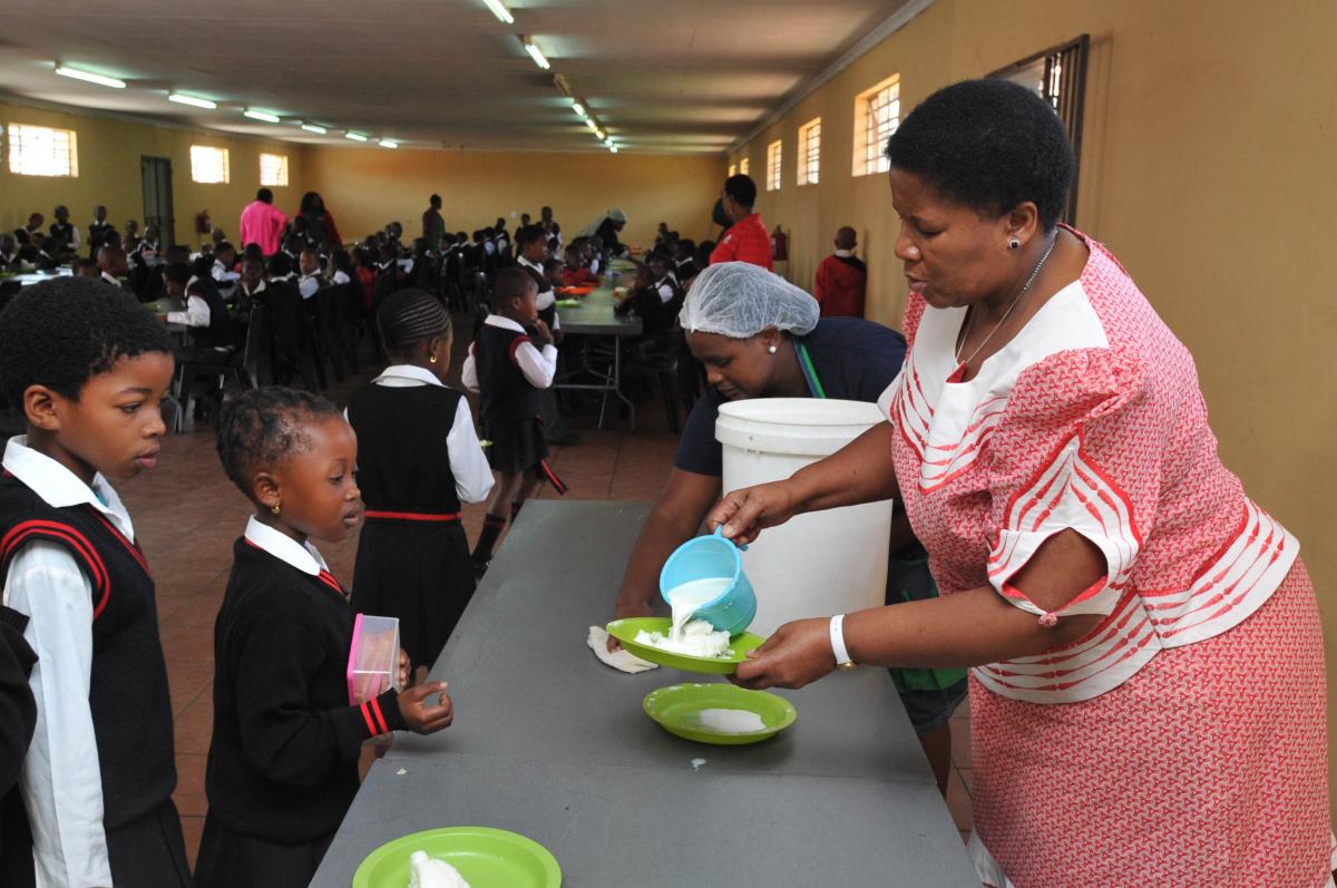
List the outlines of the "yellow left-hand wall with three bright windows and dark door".
{"type": "MultiPolygon", "coordinates": [[[[87,237],[92,207],[107,205],[107,218],[124,233],[126,219],[143,227],[144,199],[140,181],[140,156],[168,158],[172,166],[172,203],[176,213],[176,241],[198,245],[195,214],[209,210],[217,227],[237,237],[242,209],[255,199],[259,189],[259,154],[287,155],[289,187],[273,189],[274,205],[295,213],[303,189],[303,146],[283,142],[261,142],[206,130],[176,130],[122,119],[49,111],[0,102],[0,124],[31,123],[76,132],[78,178],[13,175],[8,154],[0,163],[0,230],[13,230],[28,222],[29,213],[41,213],[45,225],[55,218],[57,203],[70,207],[70,221],[87,237]],[[227,148],[230,182],[198,185],[190,181],[190,146],[209,144],[227,148]]],[[[8,146],[8,143],[7,143],[8,146]]],[[[8,148],[7,148],[8,150],[8,148]]]]}

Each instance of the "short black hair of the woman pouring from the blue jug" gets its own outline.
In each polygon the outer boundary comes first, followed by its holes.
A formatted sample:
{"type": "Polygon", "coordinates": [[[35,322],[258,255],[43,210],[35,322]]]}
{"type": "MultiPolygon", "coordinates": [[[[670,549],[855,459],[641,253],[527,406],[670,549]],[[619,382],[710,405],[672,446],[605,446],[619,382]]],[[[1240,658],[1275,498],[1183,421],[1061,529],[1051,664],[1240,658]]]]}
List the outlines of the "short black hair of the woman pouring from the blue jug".
{"type": "Polygon", "coordinates": [[[1000,215],[1031,201],[1044,230],[1063,215],[1076,160],[1059,115],[1011,80],[963,80],[924,99],[886,140],[892,167],[948,201],[1000,215]]]}

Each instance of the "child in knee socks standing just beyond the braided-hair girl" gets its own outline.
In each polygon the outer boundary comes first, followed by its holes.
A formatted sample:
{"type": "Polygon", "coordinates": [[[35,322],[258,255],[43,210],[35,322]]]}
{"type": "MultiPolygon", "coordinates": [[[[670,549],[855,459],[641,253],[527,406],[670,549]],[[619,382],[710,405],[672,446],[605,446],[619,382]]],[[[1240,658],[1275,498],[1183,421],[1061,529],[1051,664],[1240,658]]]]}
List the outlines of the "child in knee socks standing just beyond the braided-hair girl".
{"type": "Polygon", "coordinates": [[[548,325],[539,320],[537,296],[539,286],[528,270],[513,267],[497,273],[492,314],[469,346],[460,374],[464,385],[481,396],[483,436],[492,441],[488,463],[496,472],[483,534],[473,548],[473,570],[479,574],[487,571],[497,536],[507,520],[520,514],[540,471],[559,491],[564,489],[544,464],[548,445],[539,423],[539,392],[552,385],[558,349],[548,325]],[[541,348],[529,338],[527,328],[541,348]]]}

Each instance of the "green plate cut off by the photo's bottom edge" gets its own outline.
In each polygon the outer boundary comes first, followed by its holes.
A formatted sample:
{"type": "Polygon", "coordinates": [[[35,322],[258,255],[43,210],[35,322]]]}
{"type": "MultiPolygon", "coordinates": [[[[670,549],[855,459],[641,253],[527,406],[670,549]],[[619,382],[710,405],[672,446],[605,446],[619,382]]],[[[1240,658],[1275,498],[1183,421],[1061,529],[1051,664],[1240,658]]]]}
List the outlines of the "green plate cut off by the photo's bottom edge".
{"type": "Polygon", "coordinates": [[[353,873],[353,888],[404,888],[409,855],[425,851],[460,871],[469,888],[559,888],[562,868],[548,849],[491,826],[428,829],[386,843],[353,873]]]}

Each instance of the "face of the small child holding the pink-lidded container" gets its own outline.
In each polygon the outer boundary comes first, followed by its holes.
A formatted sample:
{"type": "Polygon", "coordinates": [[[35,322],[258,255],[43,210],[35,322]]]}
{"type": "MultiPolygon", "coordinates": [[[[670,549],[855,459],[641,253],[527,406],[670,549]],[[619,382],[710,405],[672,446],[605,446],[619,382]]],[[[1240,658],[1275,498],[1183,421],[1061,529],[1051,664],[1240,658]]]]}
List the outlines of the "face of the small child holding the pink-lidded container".
{"type": "Polygon", "coordinates": [[[269,467],[277,523],[289,535],[338,543],[362,520],[357,435],[342,417],[321,417],[302,427],[303,447],[282,465],[269,467]]]}

